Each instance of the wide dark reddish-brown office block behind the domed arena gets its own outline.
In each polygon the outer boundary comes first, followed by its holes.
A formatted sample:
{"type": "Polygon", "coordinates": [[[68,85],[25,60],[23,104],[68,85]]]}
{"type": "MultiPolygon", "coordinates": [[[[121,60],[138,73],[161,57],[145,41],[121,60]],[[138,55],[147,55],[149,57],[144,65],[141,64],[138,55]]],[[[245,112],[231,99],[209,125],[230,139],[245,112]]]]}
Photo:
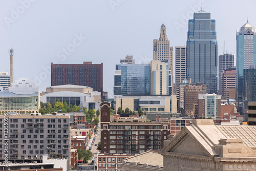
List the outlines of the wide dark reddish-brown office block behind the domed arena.
{"type": "Polygon", "coordinates": [[[73,84],[88,86],[93,91],[103,92],[103,63],[53,64],[51,63],[51,86],[73,84]]]}

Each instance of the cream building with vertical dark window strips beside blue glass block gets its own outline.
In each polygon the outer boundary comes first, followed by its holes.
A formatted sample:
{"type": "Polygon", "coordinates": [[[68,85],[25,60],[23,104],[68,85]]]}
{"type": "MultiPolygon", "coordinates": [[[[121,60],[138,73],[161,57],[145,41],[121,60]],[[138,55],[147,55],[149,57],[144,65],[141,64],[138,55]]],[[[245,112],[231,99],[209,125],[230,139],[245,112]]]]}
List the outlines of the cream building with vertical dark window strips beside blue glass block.
{"type": "Polygon", "coordinates": [[[169,94],[169,69],[168,63],[159,60],[150,62],[150,94],[151,95],[168,95],[169,94]]]}

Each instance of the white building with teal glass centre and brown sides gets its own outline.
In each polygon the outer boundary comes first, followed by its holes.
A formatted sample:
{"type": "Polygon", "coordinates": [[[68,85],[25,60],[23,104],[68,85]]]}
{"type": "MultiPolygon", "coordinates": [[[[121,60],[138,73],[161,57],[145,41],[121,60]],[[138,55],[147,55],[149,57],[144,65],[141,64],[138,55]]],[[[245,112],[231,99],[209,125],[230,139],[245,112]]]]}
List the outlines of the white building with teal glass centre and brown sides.
{"type": "Polygon", "coordinates": [[[198,117],[221,118],[221,95],[199,94],[198,95],[198,117]]]}

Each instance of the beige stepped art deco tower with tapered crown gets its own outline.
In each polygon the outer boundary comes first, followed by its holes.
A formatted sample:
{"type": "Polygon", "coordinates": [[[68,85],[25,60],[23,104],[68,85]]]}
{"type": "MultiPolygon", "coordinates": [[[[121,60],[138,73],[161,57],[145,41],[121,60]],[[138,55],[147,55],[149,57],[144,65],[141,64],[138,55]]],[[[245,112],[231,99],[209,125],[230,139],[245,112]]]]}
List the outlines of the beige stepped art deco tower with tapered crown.
{"type": "MultiPolygon", "coordinates": [[[[170,47],[170,41],[167,39],[166,27],[161,26],[161,33],[159,39],[153,40],[153,59],[154,60],[168,60],[169,70],[171,70],[172,78],[174,72],[174,57],[173,47],[170,47]]],[[[173,80],[172,80],[173,83],[173,80]]]]}

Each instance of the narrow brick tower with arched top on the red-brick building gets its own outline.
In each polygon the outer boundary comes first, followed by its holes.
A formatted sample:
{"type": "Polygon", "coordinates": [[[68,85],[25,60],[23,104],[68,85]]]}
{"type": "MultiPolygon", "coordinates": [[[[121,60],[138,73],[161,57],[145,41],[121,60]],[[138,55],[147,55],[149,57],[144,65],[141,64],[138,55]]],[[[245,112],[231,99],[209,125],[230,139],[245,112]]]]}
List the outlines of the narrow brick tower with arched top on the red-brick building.
{"type": "Polygon", "coordinates": [[[109,140],[109,123],[110,123],[110,103],[102,102],[100,104],[100,141],[101,141],[101,153],[108,152],[108,140],[109,140]]]}

